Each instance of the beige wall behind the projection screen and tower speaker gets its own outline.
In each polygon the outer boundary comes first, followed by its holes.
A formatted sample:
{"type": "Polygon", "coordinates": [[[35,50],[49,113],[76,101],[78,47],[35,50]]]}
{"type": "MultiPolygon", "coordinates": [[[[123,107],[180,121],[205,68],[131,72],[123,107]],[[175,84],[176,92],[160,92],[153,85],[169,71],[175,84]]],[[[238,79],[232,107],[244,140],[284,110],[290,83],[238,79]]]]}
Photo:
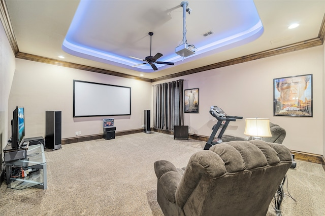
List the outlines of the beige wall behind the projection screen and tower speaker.
{"type": "Polygon", "coordinates": [[[46,110],[62,111],[62,139],[75,137],[76,131],[81,136],[103,133],[105,116],[73,118],[73,79],[131,87],[132,115],[112,117],[117,132],[141,128],[144,110],[151,106],[150,82],[16,59],[9,111],[25,108],[26,137],[45,137],[46,110]]]}

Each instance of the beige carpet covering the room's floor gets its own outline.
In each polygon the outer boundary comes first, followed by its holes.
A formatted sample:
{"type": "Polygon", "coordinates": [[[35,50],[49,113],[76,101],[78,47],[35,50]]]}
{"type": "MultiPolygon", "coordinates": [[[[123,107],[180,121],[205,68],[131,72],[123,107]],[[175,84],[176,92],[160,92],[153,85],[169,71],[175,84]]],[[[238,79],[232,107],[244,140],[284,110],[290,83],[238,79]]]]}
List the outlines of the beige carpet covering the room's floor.
{"type": "MultiPolygon", "coordinates": [[[[46,150],[48,189],[0,187],[0,215],[154,215],[153,163],[169,160],[184,167],[205,142],[174,140],[161,133],[133,134],[46,150]]],[[[325,215],[325,171],[320,164],[297,161],[287,173],[282,215],[325,215]],[[288,192],[295,202],[289,196],[288,192]]],[[[268,216],[276,215],[271,203],[268,216]]]]}

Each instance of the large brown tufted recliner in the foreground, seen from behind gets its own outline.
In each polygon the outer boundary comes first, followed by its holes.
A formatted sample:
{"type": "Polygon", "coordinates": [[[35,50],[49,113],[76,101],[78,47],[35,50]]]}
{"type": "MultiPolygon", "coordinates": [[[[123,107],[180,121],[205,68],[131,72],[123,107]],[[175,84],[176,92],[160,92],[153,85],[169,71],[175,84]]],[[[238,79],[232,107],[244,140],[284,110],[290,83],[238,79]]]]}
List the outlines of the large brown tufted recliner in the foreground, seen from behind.
{"type": "Polygon", "coordinates": [[[154,163],[165,215],[266,215],[291,165],[290,151],[261,140],[232,141],[194,153],[184,169],[154,163]]]}

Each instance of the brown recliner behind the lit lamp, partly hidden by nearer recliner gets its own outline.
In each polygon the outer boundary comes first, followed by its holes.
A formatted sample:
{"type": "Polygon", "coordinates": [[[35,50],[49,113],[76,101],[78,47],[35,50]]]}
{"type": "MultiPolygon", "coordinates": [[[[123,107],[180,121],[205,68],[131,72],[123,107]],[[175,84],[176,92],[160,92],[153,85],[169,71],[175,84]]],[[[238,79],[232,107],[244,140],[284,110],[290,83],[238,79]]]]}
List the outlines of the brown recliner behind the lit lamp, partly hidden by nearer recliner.
{"type": "MultiPolygon", "coordinates": [[[[274,124],[270,122],[270,131],[272,137],[263,137],[262,140],[268,143],[279,143],[282,144],[286,132],[285,129],[280,127],[277,124],[274,124]]],[[[242,137],[236,137],[236,136],[231,136],[231,135],[222,135],[221,137],[222,142],[230,142],[230,141],[236,141],[236,140],[241,140],[241,141],[247,141],[245,138],[242,137]]],[[[248,140],[252,140],[252,137],[249,137],[248,140]]]]}

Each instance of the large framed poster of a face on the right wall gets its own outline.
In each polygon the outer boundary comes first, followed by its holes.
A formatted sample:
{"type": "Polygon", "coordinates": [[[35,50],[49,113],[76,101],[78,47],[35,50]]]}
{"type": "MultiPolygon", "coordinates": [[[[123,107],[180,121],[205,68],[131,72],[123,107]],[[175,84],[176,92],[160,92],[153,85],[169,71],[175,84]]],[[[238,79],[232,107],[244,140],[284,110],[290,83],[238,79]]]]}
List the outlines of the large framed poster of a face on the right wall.
{"type": "Polygon", "coordinates": [[[273,79],[274,116],[313,116],[312,74],[273,79]]]}

